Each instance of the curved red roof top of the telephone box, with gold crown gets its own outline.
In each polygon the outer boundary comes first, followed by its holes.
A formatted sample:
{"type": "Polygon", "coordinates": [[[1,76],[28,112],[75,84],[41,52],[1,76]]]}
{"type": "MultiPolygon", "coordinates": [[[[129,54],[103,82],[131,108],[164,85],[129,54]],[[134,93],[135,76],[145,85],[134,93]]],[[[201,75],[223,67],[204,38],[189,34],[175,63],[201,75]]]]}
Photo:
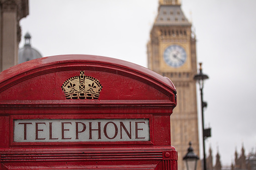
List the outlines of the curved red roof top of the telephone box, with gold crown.
{"type": "Polygon", "coordinates": [[[169,100],[175,104],[175,96],[175,86],[168,78],[142,66],[108,57],[91,55],[44,57],[16,65],[0,73],[2,101],[169,100]],[[81,77],[85,79],[81,80],[81,77]],[[87,87],[79,84],[79,81],[84,81],[82,84],[85,83],[87,87]],[[89,87],[90,83],[97,85],[96,89],[89,87]],[[98,94],[92,93],[88,94],[89,96],[84,94],[89,88],[93,93],[98,94]],[[71,93],[70,90],[78,93],[71,93]],[[68,92],[70,92],[69,98],[66,94],[68,92]]]}

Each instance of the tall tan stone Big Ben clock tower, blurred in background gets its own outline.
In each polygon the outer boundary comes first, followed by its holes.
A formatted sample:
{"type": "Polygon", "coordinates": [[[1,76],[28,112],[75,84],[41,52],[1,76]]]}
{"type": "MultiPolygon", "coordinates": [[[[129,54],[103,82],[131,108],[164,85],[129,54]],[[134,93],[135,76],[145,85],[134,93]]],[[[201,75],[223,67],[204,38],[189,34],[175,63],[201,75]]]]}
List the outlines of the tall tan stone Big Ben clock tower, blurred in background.
{"type": "MultiPolygon", "coordinates": [[[[170,78],[177,89],[178,105],[171,116],[172,145],[178,151],[178,169],[189,142],[199,155],[196,82],[196,40],[191,23],[178,0],[159,0],[158,14],[147,44],[148,68],[170,78]]],[[[198,169],[201,165],[198,164],[198,169]]]]}

